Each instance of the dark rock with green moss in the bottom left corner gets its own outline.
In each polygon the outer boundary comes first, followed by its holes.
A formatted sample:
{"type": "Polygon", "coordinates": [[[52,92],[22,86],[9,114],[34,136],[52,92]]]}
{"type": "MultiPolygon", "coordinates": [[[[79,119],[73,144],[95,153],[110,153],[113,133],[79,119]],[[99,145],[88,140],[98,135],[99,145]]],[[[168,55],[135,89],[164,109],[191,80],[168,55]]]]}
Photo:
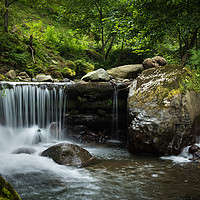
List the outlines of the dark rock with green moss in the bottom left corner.
{"type": "Polygon", "coordinates": [[[20,200],[19,195],[4,178],[0,176],[0,200],[20,200]]]}

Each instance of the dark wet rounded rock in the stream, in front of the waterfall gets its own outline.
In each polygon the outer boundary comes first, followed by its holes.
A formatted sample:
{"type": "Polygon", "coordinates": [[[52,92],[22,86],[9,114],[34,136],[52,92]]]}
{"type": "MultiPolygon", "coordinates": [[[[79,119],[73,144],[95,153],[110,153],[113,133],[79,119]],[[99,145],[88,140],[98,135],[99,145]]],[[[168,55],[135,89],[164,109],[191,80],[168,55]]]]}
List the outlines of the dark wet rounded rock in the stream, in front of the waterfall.
{"type": "Polygon", "coordinates": [[[42,152],[41,156],[52,158],[56,163],[67,166],[87,166],[97,161],[87,150],[68,143],[56,144],[42,152]]]}

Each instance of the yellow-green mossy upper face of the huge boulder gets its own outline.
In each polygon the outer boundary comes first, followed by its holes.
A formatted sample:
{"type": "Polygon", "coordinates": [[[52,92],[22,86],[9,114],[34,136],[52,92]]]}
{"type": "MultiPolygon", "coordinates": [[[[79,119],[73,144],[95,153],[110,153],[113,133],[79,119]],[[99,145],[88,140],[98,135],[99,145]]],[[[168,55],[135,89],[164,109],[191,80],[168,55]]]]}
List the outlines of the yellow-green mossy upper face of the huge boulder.
{"type": "Polygon", "coordinates": [[[182,74],[182,67],[180,66],[165,66],[158,68],[151,68],[143,71],[138,77],[136,93],[129,98],[130,102],[134,102],[132,106],[142,107],[146,111],[157,111],[166,109],[169,102],[174,96],[181,93],[180,79],[182,74]]]}

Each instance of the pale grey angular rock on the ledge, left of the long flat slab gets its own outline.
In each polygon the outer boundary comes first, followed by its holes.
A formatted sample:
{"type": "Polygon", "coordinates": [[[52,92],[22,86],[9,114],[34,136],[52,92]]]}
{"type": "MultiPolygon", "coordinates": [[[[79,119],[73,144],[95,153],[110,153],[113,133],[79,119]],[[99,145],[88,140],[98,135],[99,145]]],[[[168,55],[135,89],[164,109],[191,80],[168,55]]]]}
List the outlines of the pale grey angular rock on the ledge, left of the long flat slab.
{"type": "Polygon", "coordinates": [[[96,71],[92,71],[87,73],[85,76],[81,78],[84,81],[109,81],[110,77],[108,73],[104,69],[98,69],[96,71]]]}

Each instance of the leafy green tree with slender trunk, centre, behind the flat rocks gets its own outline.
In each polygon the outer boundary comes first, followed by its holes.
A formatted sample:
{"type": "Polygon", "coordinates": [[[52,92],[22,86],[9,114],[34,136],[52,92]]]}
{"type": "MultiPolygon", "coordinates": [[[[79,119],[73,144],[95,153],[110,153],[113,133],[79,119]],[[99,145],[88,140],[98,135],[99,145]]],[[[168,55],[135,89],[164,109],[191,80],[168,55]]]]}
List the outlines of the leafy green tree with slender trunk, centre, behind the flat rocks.
{"type": "Polygon", "coordinates": [[[72,0],[66,1],[60,17],[70,28],[86,33],[100,43],[103,61],[106,61],[117,40],[116,24],[123,18],[125,9],[120,0],[72,0]]]}

